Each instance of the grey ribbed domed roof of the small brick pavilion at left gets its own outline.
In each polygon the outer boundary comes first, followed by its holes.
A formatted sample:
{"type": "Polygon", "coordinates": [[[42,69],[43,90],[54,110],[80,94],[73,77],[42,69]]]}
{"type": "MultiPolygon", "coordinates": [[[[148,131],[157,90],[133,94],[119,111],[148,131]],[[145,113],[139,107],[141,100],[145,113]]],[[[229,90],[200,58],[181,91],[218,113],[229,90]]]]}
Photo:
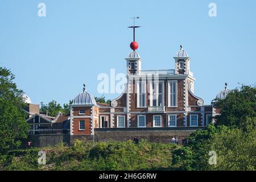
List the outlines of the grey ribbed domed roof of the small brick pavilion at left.
{"type": "Polygon", "coordinates": [[[75,97],[73,105],[97,105],[97,103],[91,94],[84,91],[75,97]]]}

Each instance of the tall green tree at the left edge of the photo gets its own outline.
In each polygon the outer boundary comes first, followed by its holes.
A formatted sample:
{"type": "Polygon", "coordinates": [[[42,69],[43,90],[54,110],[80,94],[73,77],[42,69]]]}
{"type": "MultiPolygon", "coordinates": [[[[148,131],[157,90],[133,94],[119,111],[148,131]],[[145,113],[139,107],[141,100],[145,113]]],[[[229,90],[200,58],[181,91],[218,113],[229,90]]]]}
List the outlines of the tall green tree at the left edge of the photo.
{"type": "Polygon", "coordinates": [[[22,90],[14,83],[15,76],[9,69],[0,67],[0,153],[5,154],[20,146],[29,126],[25,121],[22,90]]]}

